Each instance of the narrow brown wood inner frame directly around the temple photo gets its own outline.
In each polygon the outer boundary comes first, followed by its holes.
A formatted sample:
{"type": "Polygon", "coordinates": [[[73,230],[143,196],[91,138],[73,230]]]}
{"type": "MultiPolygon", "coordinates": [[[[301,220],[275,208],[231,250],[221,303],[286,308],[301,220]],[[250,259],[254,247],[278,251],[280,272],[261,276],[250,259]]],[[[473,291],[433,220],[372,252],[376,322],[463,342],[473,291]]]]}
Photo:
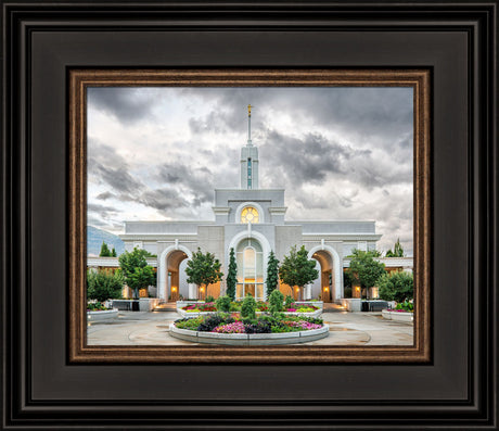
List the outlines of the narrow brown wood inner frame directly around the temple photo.
{"type": "Polygon", "coordinates": [[[415,363],[431,358],[430,71],[72,69],[69,73],[69,360],[148,363],[415,363]],[[414,342],[411,346],[116,346],[87,344],[87,88],[104,86],[411,87],[414,106],[414,342]]]}

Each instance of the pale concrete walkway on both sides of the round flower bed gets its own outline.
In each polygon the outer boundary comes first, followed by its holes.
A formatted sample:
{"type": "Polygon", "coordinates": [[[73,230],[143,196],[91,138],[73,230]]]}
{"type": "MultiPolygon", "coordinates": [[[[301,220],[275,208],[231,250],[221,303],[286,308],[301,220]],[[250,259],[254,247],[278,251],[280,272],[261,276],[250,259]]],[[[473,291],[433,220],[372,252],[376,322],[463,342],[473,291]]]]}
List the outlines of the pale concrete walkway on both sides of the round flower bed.
{"type": "MultiPolygon", "coordinates": [[[[413,325],[385,320],[381,313],[347,313],[330,307],[322,314],[329,337],[307,345],[411,345],[413,325]]],[[[114,320],[88,326],[89,345],[194,345],[169,335],[176,312],[119,312],[114,320]]]]}

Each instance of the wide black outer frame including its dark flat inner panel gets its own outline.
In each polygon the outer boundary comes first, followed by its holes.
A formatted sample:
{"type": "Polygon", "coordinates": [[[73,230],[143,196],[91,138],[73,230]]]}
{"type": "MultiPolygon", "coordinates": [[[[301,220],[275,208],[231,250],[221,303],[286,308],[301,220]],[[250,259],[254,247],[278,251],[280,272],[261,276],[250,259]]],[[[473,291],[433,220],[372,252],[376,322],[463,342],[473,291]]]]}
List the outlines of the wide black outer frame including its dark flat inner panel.
{"type": "Polygon", "coordinates": [[[4,429],[497,429],[496,0],[2,5],[4,429]],[[431,68],[431,362],[71,364],[67,71],[132,66],[431,68]]]}

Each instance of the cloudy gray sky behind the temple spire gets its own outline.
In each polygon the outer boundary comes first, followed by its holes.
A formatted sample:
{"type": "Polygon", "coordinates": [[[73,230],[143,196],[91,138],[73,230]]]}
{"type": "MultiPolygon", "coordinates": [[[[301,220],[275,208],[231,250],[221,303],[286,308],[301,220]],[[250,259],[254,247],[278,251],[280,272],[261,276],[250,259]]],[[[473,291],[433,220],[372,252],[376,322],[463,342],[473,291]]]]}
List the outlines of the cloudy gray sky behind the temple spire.
{"type": "Polygon", "coordinates": [[[90,88],[88,224],[213,219],[247,139],[286,219],[373,219],[412,254],[411,88],[90,88]]]}

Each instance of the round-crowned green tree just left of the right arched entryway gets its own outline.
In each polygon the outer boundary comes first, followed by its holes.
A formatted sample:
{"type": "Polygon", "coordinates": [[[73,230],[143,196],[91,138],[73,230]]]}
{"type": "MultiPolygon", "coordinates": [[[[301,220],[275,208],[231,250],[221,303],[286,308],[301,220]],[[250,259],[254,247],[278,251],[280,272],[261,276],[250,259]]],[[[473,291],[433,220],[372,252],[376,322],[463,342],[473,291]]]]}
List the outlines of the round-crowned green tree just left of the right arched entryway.
{"type": "Polygon", "coordinates": [[[305,246],[302,245],[296,251],[296,245],[294,245],[291,248],[290,254],[284,256],[282,261],[279,277],[287,286],[297,286],[299,295],[303,297],[304,286],[316,280],[319,277],[319,271],[316,269],[316,261],[308,259],[308,252],[305,246]]]}

